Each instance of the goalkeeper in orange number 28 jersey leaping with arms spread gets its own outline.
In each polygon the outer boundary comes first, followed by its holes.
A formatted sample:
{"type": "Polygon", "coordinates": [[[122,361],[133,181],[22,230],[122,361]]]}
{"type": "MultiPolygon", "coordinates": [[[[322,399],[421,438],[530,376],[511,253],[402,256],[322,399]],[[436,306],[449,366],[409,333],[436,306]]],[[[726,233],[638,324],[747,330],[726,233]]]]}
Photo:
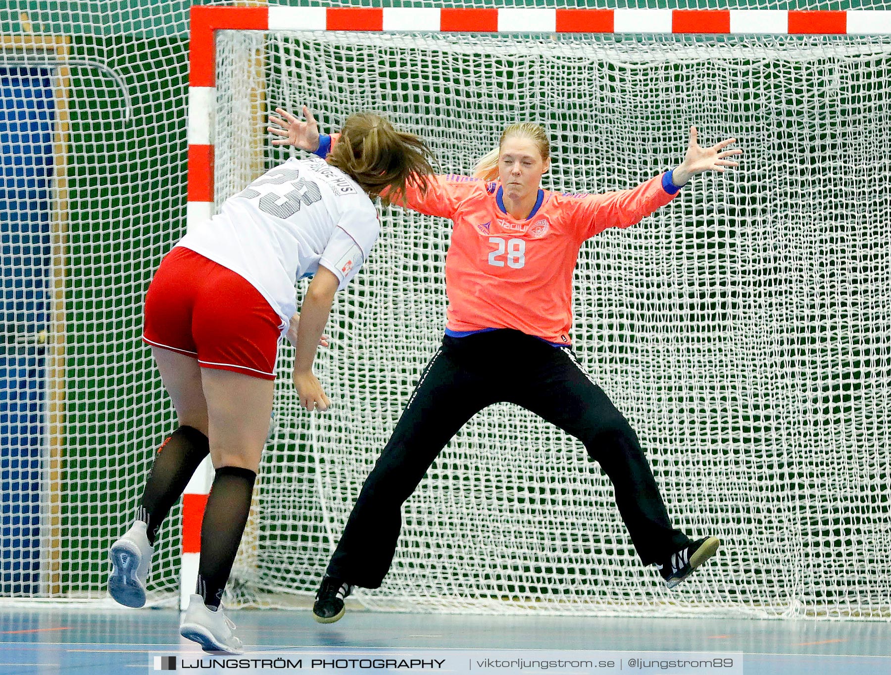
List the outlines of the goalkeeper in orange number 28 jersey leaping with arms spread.
{"type": "MultiPolygon", "coordinates": [[[[320,136],[316,143],[312,119],[281,135],[289,133],[323,157],[337,142],[320,136]]],[[[474,177],[437,176],[424,194],[406,189],[408,208],[454,223],[446,336],[364,482],[316,595],[316,621],[338,621],[353,586],[380,586],[405,499],[463,424],[498,402],[525,407],[582,440],[613,483],[642,563],[655,564],[669,588],[715,555],[715,537],[694,541],[672,527],[637,435],[579,366],[569,328],[572,275],[584,240],[634,225],[671,202],[695,174],[737,166],[730,158],[742,151],[727,149],[734,141],[702,148],[691,128],[683,163],[632,190],[554,193],[541,188],[551,155],[544,128],[512,124],[474,177]],[[505,369],[505,362],[524,367],[505,369]]]]}

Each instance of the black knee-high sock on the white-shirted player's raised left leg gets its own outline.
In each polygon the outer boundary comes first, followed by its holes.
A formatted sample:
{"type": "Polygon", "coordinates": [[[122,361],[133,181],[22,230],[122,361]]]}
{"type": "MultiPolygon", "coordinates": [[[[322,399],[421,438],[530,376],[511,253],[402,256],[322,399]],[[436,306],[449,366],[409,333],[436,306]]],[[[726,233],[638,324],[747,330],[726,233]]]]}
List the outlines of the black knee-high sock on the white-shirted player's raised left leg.
{"type": "Polygon", "coordinates": [[[183,494],[192,473],[208,456],[208,451],[208,437],[191,426],[179,427],[158,450],[139,509],[139,519],[148,523],[150,544],[154,545],[170,507],[183,494]]]}

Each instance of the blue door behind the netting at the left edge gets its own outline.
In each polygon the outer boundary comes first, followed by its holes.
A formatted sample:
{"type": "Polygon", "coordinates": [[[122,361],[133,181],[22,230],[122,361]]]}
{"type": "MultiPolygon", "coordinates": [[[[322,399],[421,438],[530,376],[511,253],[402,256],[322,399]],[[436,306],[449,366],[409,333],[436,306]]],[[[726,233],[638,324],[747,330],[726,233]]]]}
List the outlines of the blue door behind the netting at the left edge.
{"type": "Polygon", "coordinates": [[[44,69],[0,69],[0,593],[37,591],[52,281],[53,86],[44,69]]]}

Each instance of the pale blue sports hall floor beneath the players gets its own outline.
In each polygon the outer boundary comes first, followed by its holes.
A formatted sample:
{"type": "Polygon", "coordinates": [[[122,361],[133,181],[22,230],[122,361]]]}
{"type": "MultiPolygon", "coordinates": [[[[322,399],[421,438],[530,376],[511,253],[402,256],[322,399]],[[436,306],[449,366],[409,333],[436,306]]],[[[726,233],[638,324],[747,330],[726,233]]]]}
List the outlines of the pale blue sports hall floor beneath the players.
{"type": "MultiPolygon", "coordinates": [[[[426,654],[444,661],[436,669],[440,672],[527,673],[535,670],[519,666],[480,670],[480,659],[501,658],[510,663],[515,657],[550,654],[568,660],[572,654],[583,652],[594,656],[618,654],[621,672],[712,675],[721,671],[667,666],[635,670],[628,663],[635,654],[644,652],[684,652],[703,657],[741,653],[743,669],[725,672],[747,675],[891,674],[891,622],[887,621],[491,617],[351,611],[338,623],[323,626],[315,623],[307,611],[242,610],[232,616],[246,643],[246,656],[251,658],[288,659],[291,664],[301,659],[301,668],[308,669],[313,654],[343,657],[338,666],[323,665],[313,672],[367,672],[368,663],[372,671],[399,672],[405,667],[378,669],[375,663],[381,662],[369,660],[384,655],[426,654]],[[347,657],[353,661],[347,661],[347,657]],[[361,659],[365,661],[360,663],[361,659]],[[349,663],[364,667],[354,670],[347,667],[349,663]]],[[[0,673],[135,675],[159,670],[156,656],[168,656],[168,665],[170,657],[175,656],[179,659],[178,671],[246,672],[212,662],[197,646],[181,639],[178,619],[175,610],[0,605],[0,673]]],[[[255,661],[254,665],[262,663],[255,661]]],[[[265,668],[257,671],[267,672],[265,668]]],[[[289,667],[277,672],[300,671],[289,667]]],[[[410,671],[429,672],[422,668],[410,671]]],[[[554,667],[549,672],[619,670],[616,664],[609,669],[554,667]]]]}

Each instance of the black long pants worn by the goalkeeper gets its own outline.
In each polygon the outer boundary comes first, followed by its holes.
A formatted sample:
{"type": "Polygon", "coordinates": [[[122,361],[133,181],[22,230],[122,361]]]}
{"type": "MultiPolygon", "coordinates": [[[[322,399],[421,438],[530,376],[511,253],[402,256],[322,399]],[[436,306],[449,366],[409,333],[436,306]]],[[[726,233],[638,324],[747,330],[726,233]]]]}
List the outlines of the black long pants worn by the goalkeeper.
{"type": "Polygon", "coordinates": [[[672,528],[636,434],[572,351],[497,330],[446,336],[364,482],[328,574],[378,588],[396,551],[403,503],[470,417],[502,401],[527,408],[584,443],[613,483],[643,564],[690,542],[672,528]]]}

